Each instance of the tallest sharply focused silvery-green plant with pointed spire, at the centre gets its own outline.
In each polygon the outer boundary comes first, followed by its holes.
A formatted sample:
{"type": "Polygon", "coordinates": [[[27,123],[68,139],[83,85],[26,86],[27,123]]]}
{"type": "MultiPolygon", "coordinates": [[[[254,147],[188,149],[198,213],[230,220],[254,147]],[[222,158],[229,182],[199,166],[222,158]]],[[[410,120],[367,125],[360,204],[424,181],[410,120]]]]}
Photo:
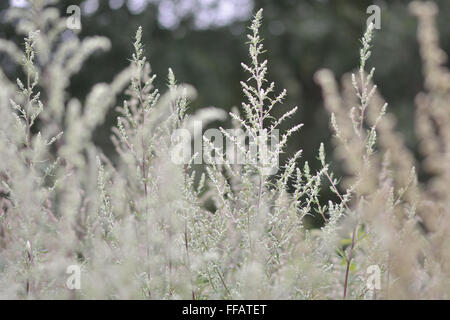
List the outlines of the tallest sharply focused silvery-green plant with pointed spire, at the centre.
{"type": "MultiPolygon", "coordinates": [[[[209,242],[206,246],[200,243],[200,249],[204,253],[214,253],[209,254],[213,259],[202,276],[211,283],[216,297],[296,297],[300,289],[295,282],[288,285],[282,279],[296,277],[302,271],[295,270],[293,264],[299,259],[305,241],[303,218],[317,206],[322,209],[318,194],[323,170],[313,174],[307,165],[305,170],[298,168],[301,151],[294,154],[274,179],[264,171],[264,165],[271,162],[262,157],[278,158],[288,137],[301,125],[282,133],[268,154],[262,151],[258,139],[278,129],[297,108],[288,110],[279,119],[270,114],[282,102],[286,91],[272,96],[275,84],[267,84],[267,60],[260,61],[263,54],[259,35],[261,20],[262,10],[256,13],[248,35],[251,64],[242,64],[249,73],[249,79],[241,82],[246,98],[242,103],[244,116],[236,111],[230,114],[235,120],[236,135],[222,130],[245,163],[230,161],[225,150],[206,138],[204,142],[207,155],[214,150],[216,159],[220,160],[207,167],[208,184],[214,190],[210,197],[215,211],[201,219],[202,229],[207,234],[198,236],[209,242]],[[250,137],[248,144],[242,136],[250,137]],[[295,186],[293,194],[287,190],[290,182],[295,186]]],[[[303,287],[305,292],[311,289],[303,287]]]]}

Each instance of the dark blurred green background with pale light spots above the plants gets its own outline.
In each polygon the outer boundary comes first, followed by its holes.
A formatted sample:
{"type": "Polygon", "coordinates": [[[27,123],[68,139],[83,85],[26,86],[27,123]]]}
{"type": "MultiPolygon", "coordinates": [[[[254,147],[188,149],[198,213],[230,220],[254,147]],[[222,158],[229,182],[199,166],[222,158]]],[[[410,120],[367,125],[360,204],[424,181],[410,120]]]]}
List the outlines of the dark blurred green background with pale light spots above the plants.
{"type": "MultiPolygon", "coordinates": [[[[0,18],[10,4],[23,1],[2,0],[0,18]]],[[[275,110],[284,113],[298,105],[291,123],[304,123],[300,133],[290,141],[289,151],[301,148],[304,159],[314,160],[319,144],[330,141],[329,118],[322,106],[320,88],[314,72],[331,69],[339,78],[352,71],[359,62],[359,38],[369,14],[368,6],[381,8],[381,30],[375,33],[370,66],[376,67],[375,82],[389,102],[389,110],[398,118],[409,146],[415,149],[413,136],[414,97],[423,81],[416,40],[416,19],[408,12],[410,1],[366,0],[62,0],[62,15],[69,5],[82,8],[82,31],[88,35],[107,36],[112,49],[91,57],[70,86],[70,94],[83,98],[96,82],[109,82],[125,68],[132,53],[132,37],[138,26],[144,30],[146,55],[158,75],[156,85],[164,89],[167,68],[171,67],[180,82],[193,84],[197,108],[216,106],[230,110],[243,100],[239,81],[246,79],[240,63],[248,61],[246,27],[252,13],[264,8],[262,36],[269,59],[269,79],[279,90],[286,88],[286,106],[275,110]]],[[[450,1],[436,1],[440,14],[440,43],[450,52],[450,1]]],[[[70,32],[70,31],[68,31],[70,32]]],[[[2,22],[0,37],[22,43],[12,26],[2,22]]],[[[2,68],[14,79],[16,69],[0,55],[2,68]]],[[[109,127],[115,124],[111,110],[104,126],[98,128],[96,142],[111,154],[109,127]]],[[[223,124],[222,124],[223,125],[223,124]]],[[[225,124],[227,125],[227,124],[225,124]]],[[[289,125],[289,124],[288,124],[289,125]]],[[[313,161],[315,162],[315,161],[313,161]]]]}

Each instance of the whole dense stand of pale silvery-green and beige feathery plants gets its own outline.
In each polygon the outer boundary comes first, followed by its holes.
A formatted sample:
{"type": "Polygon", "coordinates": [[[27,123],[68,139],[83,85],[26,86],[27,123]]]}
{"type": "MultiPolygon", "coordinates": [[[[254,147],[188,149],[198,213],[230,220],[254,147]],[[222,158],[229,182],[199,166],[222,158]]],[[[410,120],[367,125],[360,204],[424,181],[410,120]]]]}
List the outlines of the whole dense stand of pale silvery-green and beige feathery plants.
{"type": "Polygon", "coordinates": [[[285,108],[287,93],[276,94],[267,80],[262,10],[242,64],[245,100],[229,115],[235,134],[219,131],[233,158],[193,129],[223,120],[222,110],[190,114],[195,89],[177,83],[171,69],[167,90],[154,87],[141,28],[130,67],[80,101],[69,95],[70,78],[109,40],[64,37],[65,19],[46,1],[10,9],[25,46],[0,39],[0,50],[23,67],[15,81],[0,70],[0,297],[450,298],[450,72],[438,46],[436,6],[415,1],[410,8],[424,66],[415,110],[422,158],[405,146],[373,84],[369,25],[354,74],[339,85],[331,71],[316,73],[334,158],[345,172],[339,179],[323,145],[317,172],[301,151],[276,165],[301,125],[281,132],[270,148],[263,139],[297,107],[271,115],[285,108]],[[111,136],[118,156],[109,159],[93,132],[122,94],[111,136]],[[200,140],[204,154],[174,161],[185,146],[180,132],[200,140]],[[193,165],[199,157],[201,170],[193,165]],[[429,179],[419,183],[415,168],[429,179]],[[335,197],[321,196],[324,188],[335,197]],[[308,215],[324,226],[306,228],[308,215]],[[81,267],[79,289],[67,285],[69,266],[81,267]]]}

